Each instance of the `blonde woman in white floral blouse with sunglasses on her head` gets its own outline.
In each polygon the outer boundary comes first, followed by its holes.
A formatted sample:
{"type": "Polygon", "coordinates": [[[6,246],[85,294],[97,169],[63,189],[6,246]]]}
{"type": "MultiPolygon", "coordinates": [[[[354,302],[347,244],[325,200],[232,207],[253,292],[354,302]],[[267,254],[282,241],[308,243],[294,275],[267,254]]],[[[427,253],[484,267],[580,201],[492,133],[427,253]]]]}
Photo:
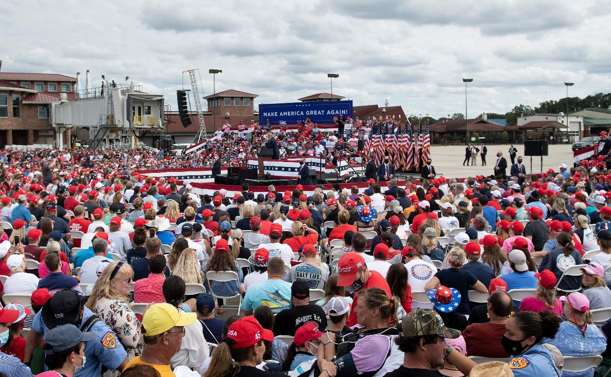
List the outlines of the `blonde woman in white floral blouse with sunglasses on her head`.
{"type": "Polygon", "coordinates": [[[117,334],[128,359],[141,355],[144,347],[140,324],[128,304],[133,277],[134,270],[127,263],[109,263],[95,281],[85,304],[117,334]]]}

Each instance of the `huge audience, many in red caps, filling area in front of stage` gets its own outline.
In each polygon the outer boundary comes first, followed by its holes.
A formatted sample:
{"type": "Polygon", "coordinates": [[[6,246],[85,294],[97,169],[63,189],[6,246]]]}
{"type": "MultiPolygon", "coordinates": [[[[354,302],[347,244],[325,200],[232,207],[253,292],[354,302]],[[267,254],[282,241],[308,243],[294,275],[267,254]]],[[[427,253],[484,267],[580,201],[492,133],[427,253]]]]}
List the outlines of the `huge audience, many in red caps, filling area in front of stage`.
{"type": "Polygon", "coordinates": [[[199,195],[145,150],[0,159],[0,376],[611,366],[605,170],[199,195]]]}

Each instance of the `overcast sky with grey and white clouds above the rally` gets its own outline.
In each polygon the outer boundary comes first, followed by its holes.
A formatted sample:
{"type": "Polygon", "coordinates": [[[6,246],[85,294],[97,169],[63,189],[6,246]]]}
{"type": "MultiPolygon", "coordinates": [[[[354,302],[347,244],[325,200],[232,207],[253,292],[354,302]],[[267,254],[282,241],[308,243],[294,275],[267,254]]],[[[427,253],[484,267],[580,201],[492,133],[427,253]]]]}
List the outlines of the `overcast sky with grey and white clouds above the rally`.
{"type": "MultiPolygon", "coordinates": [[[[611,89],[607,0],[13,1],[0,12],[2,71],[89,69],[175,109],[182,71],[199,68],[200,93],[258,94],[259,103],[333,92],[355,105],[469,117],[611,89]]],[[[188,77],[185,76],[188,86],[188,77]]]]}

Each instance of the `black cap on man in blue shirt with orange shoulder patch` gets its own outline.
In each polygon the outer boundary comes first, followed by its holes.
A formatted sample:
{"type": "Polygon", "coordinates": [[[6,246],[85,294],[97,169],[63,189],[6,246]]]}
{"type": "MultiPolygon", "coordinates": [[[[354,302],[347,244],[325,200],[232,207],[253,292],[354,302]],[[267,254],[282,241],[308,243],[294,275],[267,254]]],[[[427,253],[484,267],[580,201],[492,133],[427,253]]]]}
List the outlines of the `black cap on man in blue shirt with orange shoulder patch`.
{"type": "Polygon", "coordinates": [[[42,306],[42,320],[49,330],[62,324],[75,324],[81,309],[81,297],[75,290],[61,290],[42,306]]]}

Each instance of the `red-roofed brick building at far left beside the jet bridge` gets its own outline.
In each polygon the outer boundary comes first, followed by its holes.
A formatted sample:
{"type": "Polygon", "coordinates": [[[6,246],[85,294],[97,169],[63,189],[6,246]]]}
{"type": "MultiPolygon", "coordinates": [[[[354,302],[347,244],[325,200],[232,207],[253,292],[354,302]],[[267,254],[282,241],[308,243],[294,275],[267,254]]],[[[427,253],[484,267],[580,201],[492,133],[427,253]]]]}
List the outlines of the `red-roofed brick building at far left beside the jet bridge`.
{"type": "Polygon", "coordinates": [[[0,148],[53,144],[53,106],[62,93],[73,100],[75,84],[64,75],[0,72],[0,148]]]}

